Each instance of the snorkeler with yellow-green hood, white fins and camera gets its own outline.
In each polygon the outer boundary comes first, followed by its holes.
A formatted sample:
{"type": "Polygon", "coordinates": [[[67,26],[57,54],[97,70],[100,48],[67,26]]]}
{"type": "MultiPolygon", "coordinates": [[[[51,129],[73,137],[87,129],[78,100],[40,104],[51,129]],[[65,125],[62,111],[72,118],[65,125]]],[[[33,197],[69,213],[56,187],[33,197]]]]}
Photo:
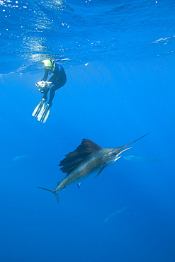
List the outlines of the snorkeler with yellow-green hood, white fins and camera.
{"type": "Polygon", "coordinates": [[[38,87],[38,91],[43,93],[43,98],[33,111],[32,115],[37,117],[38,121],[45,123],[50,113],[50,107],[52,106],[52,100],[55,96],[55,91],[66,84],[67,76],[62,65],[54,62],[52,59],[45,59],[42,61],[42,63],[44,64],[45,75],[43,79],[41,79],[41,81],[37,82],[35,85],[38,87]],[[51,73],[53,75],[48,81],[46,81],[48,74],[51,73]],[[50,98],[49,101],[45,104],[47,101],[47,93],[49,91],[50,98]]]}

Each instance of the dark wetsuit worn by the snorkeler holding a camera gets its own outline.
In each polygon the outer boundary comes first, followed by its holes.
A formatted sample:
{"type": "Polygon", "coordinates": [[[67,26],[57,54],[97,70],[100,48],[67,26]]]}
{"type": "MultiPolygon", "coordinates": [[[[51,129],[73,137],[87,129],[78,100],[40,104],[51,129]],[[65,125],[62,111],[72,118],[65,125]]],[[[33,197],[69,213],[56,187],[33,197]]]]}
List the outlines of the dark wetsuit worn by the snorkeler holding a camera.
{"type": "MultiPolygon", "coordinates": [[[[41,81],[46,81],[49,73],[50,73],[50,69],[45,69],[45,75],[44,75],[43,79],[41,79],[41,81]]],[[[52,84],[54,85],[50,89],[50,98],[49,98],[49,101],[48,101],[50,106],[52,106],[52,100],[55,96],[55,91],[57,89],[60,89],[62,86],[64,86],[64,84],[66,84],[66,81],[67,81],[66,73],[65,73],[64,68],[62,67],[61,64],[58,64],[57,62],[55,62],[55,70],[52,73],[53,73],[53,75],[48,80],[49,82],[52,82],[52,84]]],[[[47,100],[48,91],[49,91],[49,89],[47,89],[44,92],[43,98],[45,100],[47,100]]]]}

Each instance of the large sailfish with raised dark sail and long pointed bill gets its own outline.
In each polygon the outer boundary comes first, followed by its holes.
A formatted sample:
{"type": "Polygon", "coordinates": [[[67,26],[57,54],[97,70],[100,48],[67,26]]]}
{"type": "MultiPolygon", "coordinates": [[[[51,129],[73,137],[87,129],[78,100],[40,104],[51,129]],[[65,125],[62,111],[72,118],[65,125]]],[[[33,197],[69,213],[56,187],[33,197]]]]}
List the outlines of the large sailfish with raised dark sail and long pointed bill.
{"type": "Polygon", "coordinates": [[[57,202],[59,202],[58,191],[67,188],[67,186],[72,185],[72,183],[79,185],[82,179],[98,171],[95,176],[96,178],[106,166],[120,159],[121,154],[131,148],[128,147],[130,144],[137,142],[146,135],[122,147],[111,149],[100,147],[89,139],[82,139],[79,147],[73,152],[66,154],[64,159],[60,161],[58,166],[60,166],[60,170],[63,173],[67,173],[67,175],[57,183],[57,187],[55,189],[38,188],[52,192],[55,194],[57,202]]]}

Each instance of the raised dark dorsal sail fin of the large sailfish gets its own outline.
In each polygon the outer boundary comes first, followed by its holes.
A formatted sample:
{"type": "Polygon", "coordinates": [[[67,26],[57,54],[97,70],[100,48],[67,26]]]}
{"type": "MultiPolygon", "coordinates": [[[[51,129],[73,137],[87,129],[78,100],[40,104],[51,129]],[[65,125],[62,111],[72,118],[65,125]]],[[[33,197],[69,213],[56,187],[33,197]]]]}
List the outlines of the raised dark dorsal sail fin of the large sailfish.
{"type": "Polygon", "coordinates": [[[79,164],[81,164],[84,159],[86,159],[92,152],[102,149],[98,144],[94,143],[89,139],[82,139],[81,144],[77,149],[69,154],[66,154],[64,159],[60,161],[59,166],[61,166],[61,171],[63,173],[69,174],[72,172],[79,164]]]}

